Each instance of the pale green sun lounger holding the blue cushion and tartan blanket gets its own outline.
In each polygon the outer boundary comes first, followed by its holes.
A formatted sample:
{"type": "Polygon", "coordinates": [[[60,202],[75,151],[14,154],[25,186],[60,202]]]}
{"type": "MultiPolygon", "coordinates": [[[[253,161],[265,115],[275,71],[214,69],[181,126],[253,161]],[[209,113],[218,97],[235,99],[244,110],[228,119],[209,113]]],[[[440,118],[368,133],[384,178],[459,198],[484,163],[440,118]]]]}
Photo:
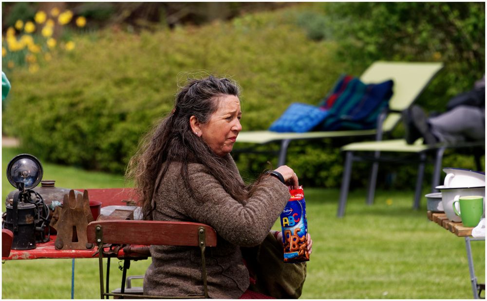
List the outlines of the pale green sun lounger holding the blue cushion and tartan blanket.
{"type": "Polygon", "coordinates": [[[390,110],[378,117],[377,129],[350,131],[321,131],[307,133],[278,133],[271,131],[241,132],[237,137],[239,143],[266,144],[280,142],[278,166],[286,162],[287,148],[293,140],[311,140],[339,137],[374,137],[382,140],[383,133],[393,130],[398,124],[400,111],[412,105],[423,89],[430,83],[435,74],[443,68],[442,63],[422,62],[384,62],[377,61],[360,76],[364,83],[379,83],[393,79],[393,96],[389,102],[390,110]]]}

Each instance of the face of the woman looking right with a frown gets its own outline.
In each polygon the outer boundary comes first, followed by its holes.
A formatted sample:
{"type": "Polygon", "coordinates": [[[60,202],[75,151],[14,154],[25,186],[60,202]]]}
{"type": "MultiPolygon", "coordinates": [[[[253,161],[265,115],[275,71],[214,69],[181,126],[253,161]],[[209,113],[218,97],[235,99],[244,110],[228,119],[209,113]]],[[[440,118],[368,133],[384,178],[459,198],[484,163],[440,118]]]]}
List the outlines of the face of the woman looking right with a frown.
{"type": "Polygon", "coordinates": [[[237,96],[219,97],[218,109],[210,116],[206,124],[201,125],[201,138],[215,154],[220,157],[232,151],[233,143],[242,130],[240,101],[237,96]]]}

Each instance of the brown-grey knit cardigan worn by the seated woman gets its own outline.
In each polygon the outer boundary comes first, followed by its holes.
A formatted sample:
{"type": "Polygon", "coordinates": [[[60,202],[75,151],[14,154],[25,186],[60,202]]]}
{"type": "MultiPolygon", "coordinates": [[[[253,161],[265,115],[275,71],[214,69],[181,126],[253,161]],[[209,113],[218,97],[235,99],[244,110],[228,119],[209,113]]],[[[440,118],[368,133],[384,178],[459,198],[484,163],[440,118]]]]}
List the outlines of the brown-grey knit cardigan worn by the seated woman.
{"type": "MultiPolygon", "coordinates": [[[[242,180],[230,155],[228,172],[242,180]]],[[[264,178],[244,202],[228,195],[202,164],[189,164],[189,181],[196,189],[190,197],[180,172],[171,163],[155,195],[154,220],[191,221],[208,224],[218,235],[217,246],[206,248],[208,295],[217,299],[239,298],[249,286],[249,275],[240,246],[260,244],[289,199],[279,179],[264,178]]],[[[198,247],[151,246],[152,264],[144,279],[144,294],[158,296],[201,295],[201,254],[198,247]]]]}

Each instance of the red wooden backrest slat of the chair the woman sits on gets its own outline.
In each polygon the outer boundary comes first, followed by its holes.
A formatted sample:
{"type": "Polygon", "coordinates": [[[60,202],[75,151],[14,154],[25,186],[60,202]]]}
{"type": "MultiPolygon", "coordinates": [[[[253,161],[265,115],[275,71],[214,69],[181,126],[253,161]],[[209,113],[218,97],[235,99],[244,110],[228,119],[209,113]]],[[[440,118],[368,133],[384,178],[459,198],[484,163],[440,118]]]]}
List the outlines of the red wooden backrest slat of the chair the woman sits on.
{"type": "Polygon", "coordinates": [[[106,220],[88,224],[88,242],[97,244],[96,227],[101,226],[103,243],[133,245],[199,246],[199,229],[205,229],[206,247],[216,246],[216,231],[191,222],[106,220]]]}

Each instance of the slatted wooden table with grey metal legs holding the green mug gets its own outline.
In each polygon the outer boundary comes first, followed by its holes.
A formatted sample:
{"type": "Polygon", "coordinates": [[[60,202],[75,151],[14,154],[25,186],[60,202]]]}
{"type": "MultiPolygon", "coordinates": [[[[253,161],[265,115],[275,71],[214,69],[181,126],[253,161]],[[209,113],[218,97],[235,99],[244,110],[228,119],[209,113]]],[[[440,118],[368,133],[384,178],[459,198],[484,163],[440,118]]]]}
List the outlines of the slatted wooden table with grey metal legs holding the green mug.
{"type": "Polygon", "coordinates": [[[472,229],[470,227],[465,227],[461,222],[452,222],[448,219],[447,214],[431,212],[428,211],[428,219],[435,222],[442,228],[449,230],[451,233],[458,237],[465,238],[465,248],[467,249],[467,259],[468,259],[468,271],[470,272],[470,282],[472,283],[472,292],[474,299],[484,299],[480,297],[482,291],[485,291],[485,283],[478,283],[477,277],[475,277],[475,271],[473,269],[473,258],[472,258],[472,248],[470,246],[470,241],[485,241],[484,238],[472,237],[472,229]]]}

